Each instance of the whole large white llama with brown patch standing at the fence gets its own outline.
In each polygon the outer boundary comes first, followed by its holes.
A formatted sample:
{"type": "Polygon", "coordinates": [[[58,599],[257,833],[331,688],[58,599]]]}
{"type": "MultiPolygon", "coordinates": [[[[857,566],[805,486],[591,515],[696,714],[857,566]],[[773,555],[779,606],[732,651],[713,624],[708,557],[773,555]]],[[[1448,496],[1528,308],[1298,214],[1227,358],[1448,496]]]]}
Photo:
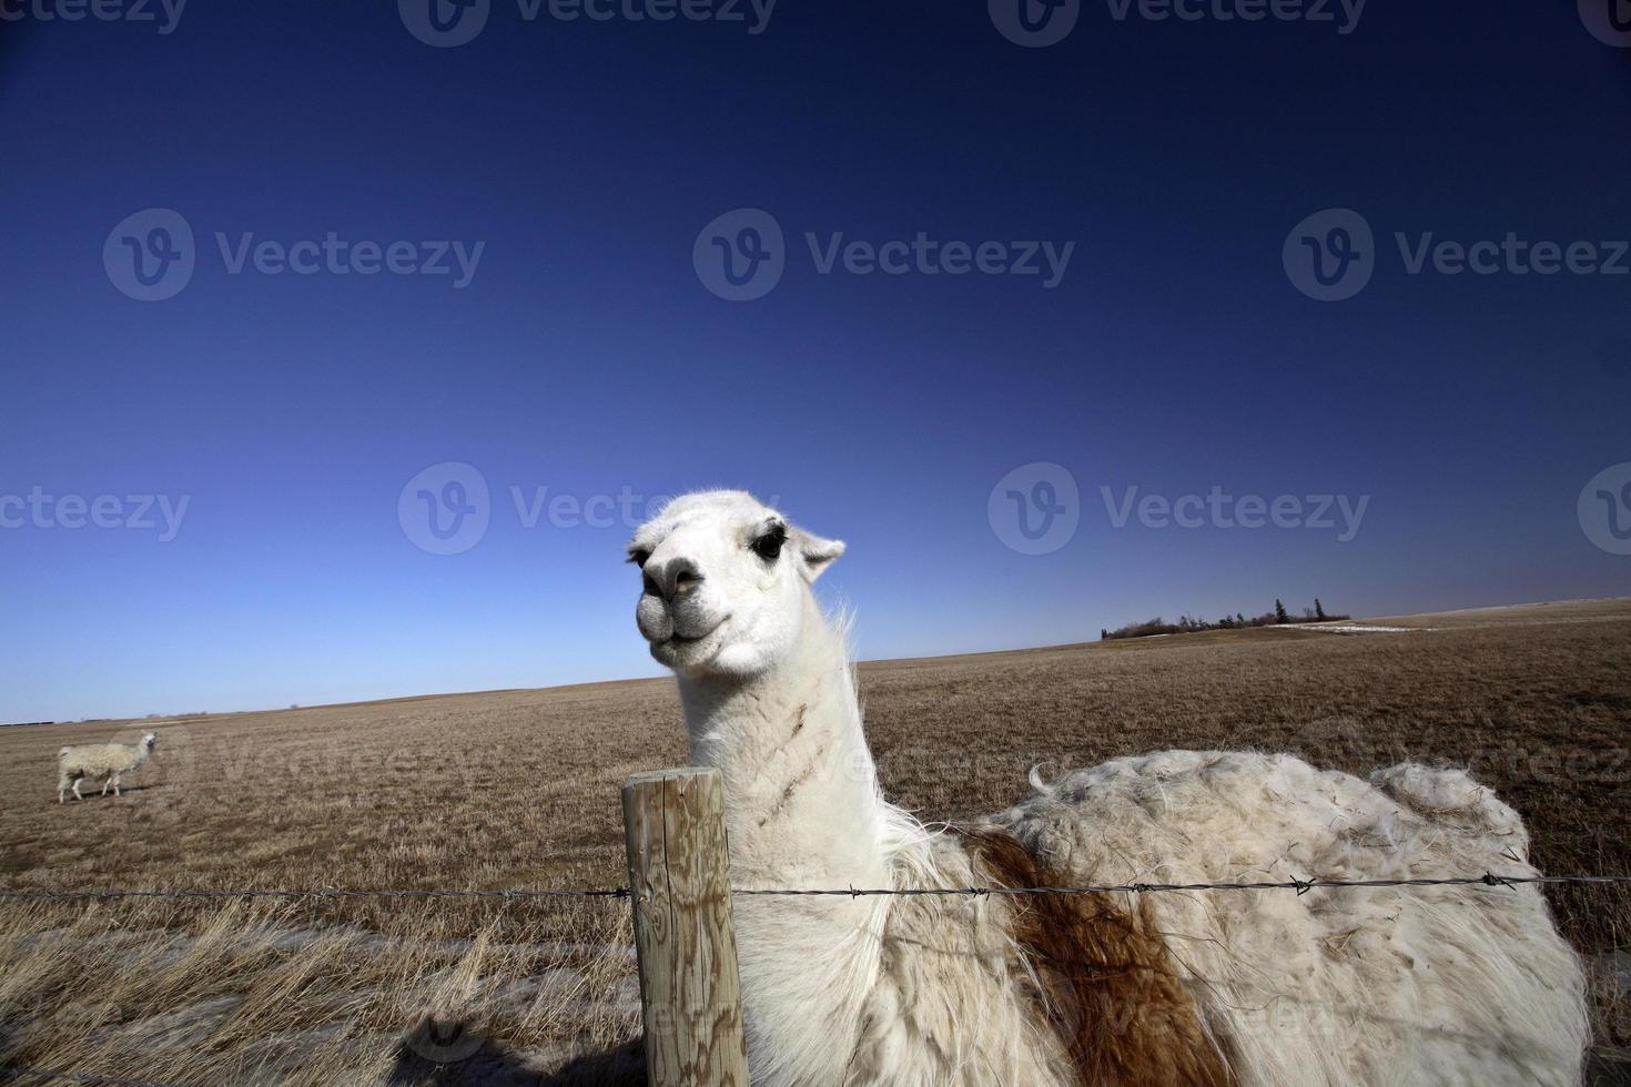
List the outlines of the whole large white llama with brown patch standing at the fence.
{"type": "MultiPolygon", "coordinates": [[[[758,888],[1532,875],[1518,816],[1460,771],[1370,782],[1287,755],[1078,771],[977,828],[877,790],[842,631],[809,583],[843,544],[742,492],[630,544],[636,618],[723,772],[758,888]]],[[[1540,891],[742,896],[755,1084],[1577,1084],[1580,965],[1540,891]]]]}

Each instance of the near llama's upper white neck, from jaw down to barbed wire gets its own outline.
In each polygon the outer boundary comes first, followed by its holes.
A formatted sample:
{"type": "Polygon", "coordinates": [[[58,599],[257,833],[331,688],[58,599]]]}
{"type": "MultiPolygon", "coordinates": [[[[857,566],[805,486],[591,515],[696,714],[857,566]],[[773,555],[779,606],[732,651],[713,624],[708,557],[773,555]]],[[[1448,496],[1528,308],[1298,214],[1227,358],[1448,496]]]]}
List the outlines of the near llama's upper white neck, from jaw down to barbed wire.
{"type": "Polygon", "coordinates": [[[843,637],[804,596],[786,660],[750,680],[680,678],[692,761],[724,777],[739,887],[884,887],[889,812],[843,637]]]}

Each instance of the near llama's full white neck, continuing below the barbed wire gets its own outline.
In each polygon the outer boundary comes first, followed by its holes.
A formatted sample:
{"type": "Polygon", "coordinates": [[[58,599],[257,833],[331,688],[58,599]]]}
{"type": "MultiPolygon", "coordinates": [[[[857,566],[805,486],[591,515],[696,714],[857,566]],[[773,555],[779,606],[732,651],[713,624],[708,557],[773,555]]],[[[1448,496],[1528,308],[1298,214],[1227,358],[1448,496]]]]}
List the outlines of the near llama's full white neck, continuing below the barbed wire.
{"type": "MultiPolygon", "coordinates": [[[[731,882],[889,887],[908,820],[877,792],[843,639],[806,596],[799,645],[752,680],[680,678],[692,761],[724,777],[731,882]]],[[[742,896],[736,942],[754,1082],[838,1084],[881,963],[887,896],[742,896]]]]}

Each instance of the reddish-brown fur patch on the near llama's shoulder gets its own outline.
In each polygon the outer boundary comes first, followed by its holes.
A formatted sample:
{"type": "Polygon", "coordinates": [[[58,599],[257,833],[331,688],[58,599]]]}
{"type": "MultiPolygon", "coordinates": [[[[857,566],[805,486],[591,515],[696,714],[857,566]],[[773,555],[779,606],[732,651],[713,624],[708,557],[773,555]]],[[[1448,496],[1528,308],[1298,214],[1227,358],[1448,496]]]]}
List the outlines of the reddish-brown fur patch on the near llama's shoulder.
{"type": "MultiPolygon", "coordinates": [[[[1011,834],[985,826],[959,833],[990,885],[1055,885],[1011,834]]],[[[1008,901],[1014,944],[1029,965],[1018,973],[1060,1032],[1081,1084],[1235,1084],[1147,901],[1132,909],[1111,895],[1014,895],[1008,901]]]]}

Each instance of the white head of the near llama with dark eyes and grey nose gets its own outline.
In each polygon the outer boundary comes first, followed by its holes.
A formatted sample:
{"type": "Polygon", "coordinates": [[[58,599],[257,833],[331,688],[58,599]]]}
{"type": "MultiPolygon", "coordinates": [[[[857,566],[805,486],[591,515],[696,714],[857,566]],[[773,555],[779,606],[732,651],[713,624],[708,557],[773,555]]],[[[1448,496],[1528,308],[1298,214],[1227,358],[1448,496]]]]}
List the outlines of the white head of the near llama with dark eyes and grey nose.
{"type": "Polygon", "coordinates": [[[798,644],[809,583],[843,543],[793,526],[744,491],[687,494],[628,544],[651,655],[680,675],[750,676],[798,644]]]}

